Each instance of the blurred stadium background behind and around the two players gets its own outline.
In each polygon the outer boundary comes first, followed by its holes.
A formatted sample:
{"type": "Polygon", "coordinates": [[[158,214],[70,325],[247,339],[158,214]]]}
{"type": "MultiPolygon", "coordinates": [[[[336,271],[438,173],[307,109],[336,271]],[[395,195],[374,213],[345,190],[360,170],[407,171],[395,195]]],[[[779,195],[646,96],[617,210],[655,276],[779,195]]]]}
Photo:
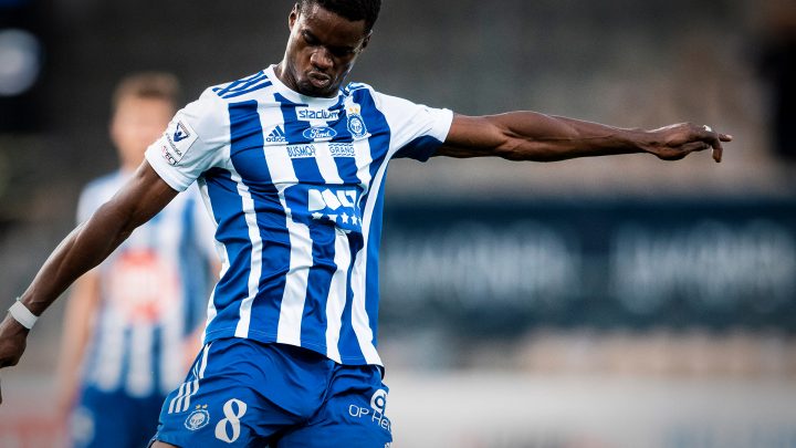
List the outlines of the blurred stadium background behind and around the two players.
{"type": "MultiPolygon", "coordinates": [[[[167,70],[188,102],[259,71],[291,6],[0,0],[7,304],[116,166],[114,84],[167,70]]],[[[397,446],[796,446],[794,35],[787,0],[385,0],[352,74],[385,93],[735,137],[721,165],[394,163],[380,350],[397,446]]],[[[62,306],[3,372],[0,446],[57,439],[62,306]]]]}

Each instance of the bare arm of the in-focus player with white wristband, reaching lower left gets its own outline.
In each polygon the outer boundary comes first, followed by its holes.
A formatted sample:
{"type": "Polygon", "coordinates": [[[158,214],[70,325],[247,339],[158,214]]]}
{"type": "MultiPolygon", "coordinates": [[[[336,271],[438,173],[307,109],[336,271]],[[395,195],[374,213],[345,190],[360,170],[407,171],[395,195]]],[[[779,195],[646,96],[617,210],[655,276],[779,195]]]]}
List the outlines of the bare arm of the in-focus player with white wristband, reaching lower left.
{"type": "MultiPolygon", "coordinates": [[[[72,282],[100,264],[136,227],[157,215],[175,196],[177,191],[145,160],[113,199],[55,248],[20,296],[22,304],[34,315],[41,315],[72,282]]],[[[19,362],[28,332],[11,315],[0,323],[0,368],[19,362]]]]}

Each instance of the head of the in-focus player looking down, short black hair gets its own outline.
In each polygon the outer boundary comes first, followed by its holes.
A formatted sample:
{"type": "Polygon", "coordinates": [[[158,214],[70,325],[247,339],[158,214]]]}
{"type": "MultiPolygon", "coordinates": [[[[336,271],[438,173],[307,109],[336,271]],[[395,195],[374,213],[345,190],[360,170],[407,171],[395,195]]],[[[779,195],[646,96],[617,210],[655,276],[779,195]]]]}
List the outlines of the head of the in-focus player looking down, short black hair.
{"type": "Polygon", "coordinates": [[[380,0],[298,0],[280,64],[287,86],[308,96],[331,97],[368,44],[380,0]]]}

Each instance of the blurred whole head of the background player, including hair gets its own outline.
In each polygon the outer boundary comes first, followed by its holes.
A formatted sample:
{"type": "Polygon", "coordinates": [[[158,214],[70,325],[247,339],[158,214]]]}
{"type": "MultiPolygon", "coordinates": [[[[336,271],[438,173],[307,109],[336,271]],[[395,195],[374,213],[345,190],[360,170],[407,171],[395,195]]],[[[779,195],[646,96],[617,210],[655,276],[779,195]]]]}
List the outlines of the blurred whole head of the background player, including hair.
{"type": "Polygon", "coordinates": [[[179,91],[177,77],[168,73],[138,73],[119,82],[111,103],[111,138],[125,169],[137,167],[147,146],[166,129],[179,91]]]}

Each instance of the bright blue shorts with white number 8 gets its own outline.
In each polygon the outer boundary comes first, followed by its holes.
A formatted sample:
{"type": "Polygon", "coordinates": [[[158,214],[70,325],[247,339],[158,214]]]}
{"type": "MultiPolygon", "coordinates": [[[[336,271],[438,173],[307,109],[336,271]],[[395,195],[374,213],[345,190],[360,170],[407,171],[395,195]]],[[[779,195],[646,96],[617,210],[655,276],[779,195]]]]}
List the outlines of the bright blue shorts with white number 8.
{"type": "Polygon", "coordinates": [[[244,338],[206,345],[166,398],[153,440],[190,447],[389,447],[377,366],[244,338]]]}

